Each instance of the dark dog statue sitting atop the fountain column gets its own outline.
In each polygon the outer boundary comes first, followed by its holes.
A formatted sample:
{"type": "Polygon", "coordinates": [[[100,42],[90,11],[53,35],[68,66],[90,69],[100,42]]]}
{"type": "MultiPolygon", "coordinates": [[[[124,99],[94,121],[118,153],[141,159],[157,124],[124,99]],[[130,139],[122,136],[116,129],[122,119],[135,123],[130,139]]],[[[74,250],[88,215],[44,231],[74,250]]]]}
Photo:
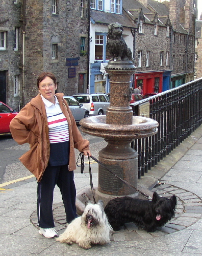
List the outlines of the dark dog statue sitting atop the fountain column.
{"type": "Polygon", "coordinates": [[[110,60],[132,60],[134,62],[131,49],[123,39],[122,32],[123,26],[117,22],[108,26],[107,50],[111,55],[110,60]]]}

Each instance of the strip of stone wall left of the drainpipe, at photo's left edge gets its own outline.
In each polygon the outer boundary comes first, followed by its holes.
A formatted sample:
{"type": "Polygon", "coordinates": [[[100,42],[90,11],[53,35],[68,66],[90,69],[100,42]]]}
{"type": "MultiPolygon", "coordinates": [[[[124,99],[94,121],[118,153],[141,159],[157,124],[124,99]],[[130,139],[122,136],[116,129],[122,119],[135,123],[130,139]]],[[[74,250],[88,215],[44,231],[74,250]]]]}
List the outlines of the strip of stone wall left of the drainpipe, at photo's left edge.
{"type": "Polygon", "coordinates": [[[0,51],[0,71],[5,71],[6,102],[12,108],[18,109],[19,96],[14,97],[14,77],[20,74],[20,53],[21,44],[19,38],[18,51],[14,51],[14,31],[18,27],[21,30],[21,4],[14,4],[13,1],[3,0],[1,2],[0,31],[6,32],[6,50],[0,51]]]}

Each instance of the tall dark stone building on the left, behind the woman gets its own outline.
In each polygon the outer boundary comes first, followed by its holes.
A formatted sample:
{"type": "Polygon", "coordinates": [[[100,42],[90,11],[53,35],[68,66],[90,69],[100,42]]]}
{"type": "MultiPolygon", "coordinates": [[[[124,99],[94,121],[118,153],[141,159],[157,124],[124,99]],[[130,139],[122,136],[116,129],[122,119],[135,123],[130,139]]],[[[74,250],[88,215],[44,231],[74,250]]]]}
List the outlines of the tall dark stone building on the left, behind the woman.
{"type": "Polygon", "coordinates": [[[36,96],[42,71],[57,76],[65,95],[87,90],[88,2],[3,0],[1,5],[0,100],[15,109],[36,96]]]}

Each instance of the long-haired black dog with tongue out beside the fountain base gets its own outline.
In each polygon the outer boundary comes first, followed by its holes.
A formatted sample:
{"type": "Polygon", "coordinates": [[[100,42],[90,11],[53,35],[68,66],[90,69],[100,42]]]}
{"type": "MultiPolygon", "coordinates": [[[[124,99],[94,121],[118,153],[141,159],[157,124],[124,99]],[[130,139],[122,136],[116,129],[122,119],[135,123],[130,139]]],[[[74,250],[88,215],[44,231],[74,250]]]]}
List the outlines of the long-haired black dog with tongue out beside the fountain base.
{"type": "Polygon", "coordinates": [[[174,217],[176,197],[160,197],[156,192],[152,201],[131,197],[114,198],[105,206],[108,221],[114,230],[126,222],[135,222],[147,232],[165,225],[174,217]]]}

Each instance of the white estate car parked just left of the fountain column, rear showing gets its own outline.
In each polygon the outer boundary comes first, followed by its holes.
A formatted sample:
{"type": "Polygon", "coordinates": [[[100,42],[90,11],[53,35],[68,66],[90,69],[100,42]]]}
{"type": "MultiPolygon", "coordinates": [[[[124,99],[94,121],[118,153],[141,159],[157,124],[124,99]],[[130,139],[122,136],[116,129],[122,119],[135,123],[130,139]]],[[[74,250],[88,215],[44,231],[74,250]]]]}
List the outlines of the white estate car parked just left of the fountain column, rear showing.
{"type": "Polygon", "coordinates": [[[73,97],[76,98],[79,103],[84,104],[90,116],[106,115],[107,108],[110,104],[109,96],[104,93],[74,94],[73,97]]]}

